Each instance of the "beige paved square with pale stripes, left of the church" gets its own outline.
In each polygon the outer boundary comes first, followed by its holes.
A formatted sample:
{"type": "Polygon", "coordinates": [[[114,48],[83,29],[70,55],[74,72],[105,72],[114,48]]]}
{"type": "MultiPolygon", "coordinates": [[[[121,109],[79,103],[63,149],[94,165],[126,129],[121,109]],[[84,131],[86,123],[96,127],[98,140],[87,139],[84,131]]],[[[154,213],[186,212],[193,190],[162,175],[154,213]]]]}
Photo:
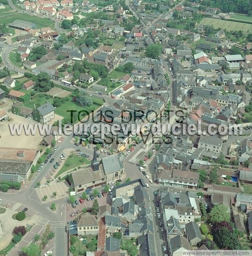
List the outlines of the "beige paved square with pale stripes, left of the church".
{"type": "Polygon", "coordinates": [[[43,187],[36,189],[37,195],[41,203],[48,203],[63,197],[68,196],[68,186],[63,182],[58,182],[54,184],[44,185],[43,187]],[[56,196],[53,196],[53,192],[56,192],[56,196]],[[47,200],[42,201],[42,197],[47,195],[47,200]]]}

